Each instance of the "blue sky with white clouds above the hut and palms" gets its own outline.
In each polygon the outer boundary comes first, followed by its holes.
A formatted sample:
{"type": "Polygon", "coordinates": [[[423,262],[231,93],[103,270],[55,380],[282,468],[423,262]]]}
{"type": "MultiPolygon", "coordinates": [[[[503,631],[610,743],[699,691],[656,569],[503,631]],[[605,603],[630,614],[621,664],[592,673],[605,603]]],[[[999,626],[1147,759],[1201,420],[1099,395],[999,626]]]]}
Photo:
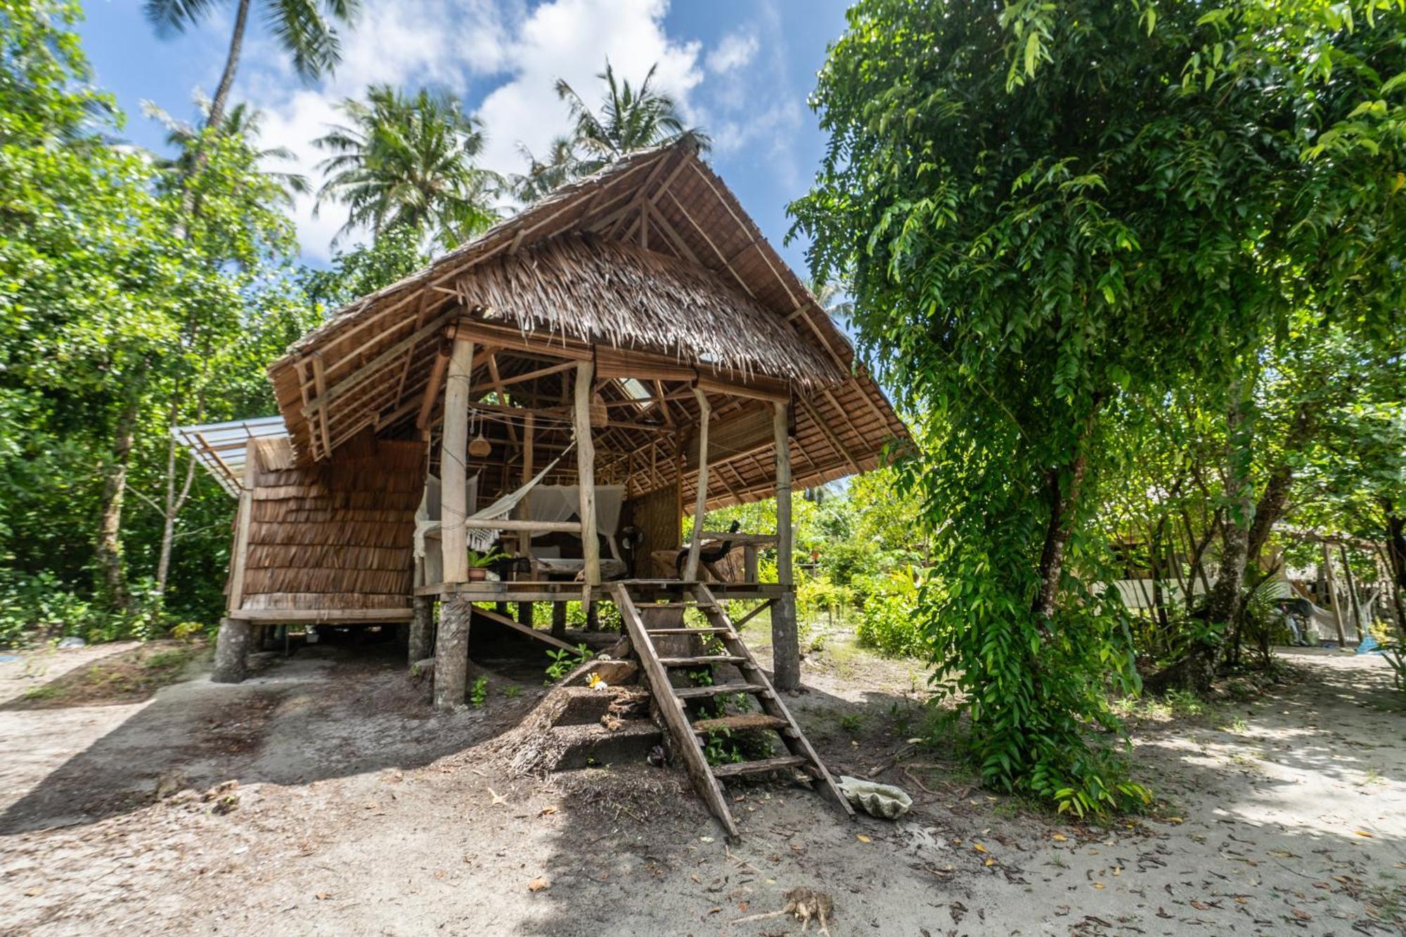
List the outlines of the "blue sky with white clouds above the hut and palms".
{"type": "MultiPolygon", "coordinates": [[[[256,6],[259,0],[256,0],[256,6]]],[[[80,31],[97,83],[128,114],[127,136],[159,148],[163,128],[142,114],[152,101],[193,118],[195,89],[214,90],[224,63],[233,3],[197,30],[160,39],[141,0],[86,0],[80,31]]],[[[333,106],[373,82],[432,86],[458,94],[486,124],[485,163],[522,167],[519,142],[536,152],[565,128],[553,80],[565,77],[586,100],[606,58],[633,80],[658,63],[659,86],[714,138],[711,162],[762,231],[804,273],[804,245],[782,246],[786,203],[806,191],[824,149],[806,104],[825,45],[844,30],[844,0],[367,0],[361,23],[343,37],[343,63],[305,84],[254,27],[233,98],[266,113],[264,146],[297,153],[316,180],[308,141],[336,120],[333,106]]],[[[342,225],[336,205],[314,218],[297,210],[304,259],[322,264],[342,225]]]]}

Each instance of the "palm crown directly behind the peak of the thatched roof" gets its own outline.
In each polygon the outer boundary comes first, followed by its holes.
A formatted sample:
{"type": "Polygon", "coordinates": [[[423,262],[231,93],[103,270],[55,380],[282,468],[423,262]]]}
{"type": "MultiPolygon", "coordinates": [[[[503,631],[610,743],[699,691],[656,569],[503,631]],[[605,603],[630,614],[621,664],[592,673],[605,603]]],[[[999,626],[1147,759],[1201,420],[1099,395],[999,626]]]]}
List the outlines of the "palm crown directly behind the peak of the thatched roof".
{"type": "Polygon", "coordinates": [[[606,62],[606,70],[596,76],[606,84],[599,113],[588,107],[565,79],[557,79],[557,94],[571,108],[571,139],[579,153],[578,174],[593,173],[626,153],[650,146],[682,139],[692,141],[700,151],[711,145],[702,129],[683,125],[672,97],[650,87],[658,68],[650,66],[644,80],[634,87],[627,80],[617,80],[614,69],[606,62]]]}

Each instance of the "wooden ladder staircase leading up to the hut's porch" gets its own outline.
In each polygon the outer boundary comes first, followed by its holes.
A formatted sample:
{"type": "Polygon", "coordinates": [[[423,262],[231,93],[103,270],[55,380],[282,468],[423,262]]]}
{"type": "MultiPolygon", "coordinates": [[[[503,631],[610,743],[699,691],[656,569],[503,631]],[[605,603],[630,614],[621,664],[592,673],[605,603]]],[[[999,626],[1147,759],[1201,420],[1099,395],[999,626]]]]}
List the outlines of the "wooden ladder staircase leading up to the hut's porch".
{"type": "Polygon", "coordinates": [[[713,592],[702,582],[681,582],[678,580],[621,580],[609,584],[612,598],[620,609],[620,619],[624,622],[626,635],[636,656],[640,658],[641,670],[664,716],[665,727],[673,740],[673,748],[683,760],[693,786],[709,809],[717,816],[723,829],[733,839],[738,837],[737,820],[727,806],[723,793],[721,778],[735,778],[744,774],[763,774],[768,771],[800,770],[811,777],[813,784],[820,784],[820,791],[845,813],[853,817],[855,812],[835,785],[825,764],[815,754],[810,741],[801,733],[800,726],[786,709],[772,681],[756,664],[752,653],[742,643],[731,619],[713,598],[713,592]],[[652,597],[668,594],[671,599],[664,604],[652,602],[652,597]],[[643,601],[637,601],[643,599],[643,601]],[[640,613],[640,608],[683,609],[696,608],[707,619],[706,627],[689,627],[685,620],[682,627],[650,627],[640,613]],[[652,636],[655,635],[710,635],[723,644],[723,653],[707,653],[693,657],[661,657],[655,649],[652,636]],[[711,687],[675,687],[669,680],[669,670],[683,667],[707,667],[710,664],[733,664],[742,674],[742,682],[714,684],[711,687]],[[762,716],[723,716],[717,719],[699,719],[690,722],[685,705],[690,699],[707,699],[723,694],[747,694],[754,696],[762,709],[762,716]],[[785,743],[790,754],[759,761],[738,761],[733,764],[710,765],[703,754],[700,736],[720,729],[773,729],[785,743]]]}

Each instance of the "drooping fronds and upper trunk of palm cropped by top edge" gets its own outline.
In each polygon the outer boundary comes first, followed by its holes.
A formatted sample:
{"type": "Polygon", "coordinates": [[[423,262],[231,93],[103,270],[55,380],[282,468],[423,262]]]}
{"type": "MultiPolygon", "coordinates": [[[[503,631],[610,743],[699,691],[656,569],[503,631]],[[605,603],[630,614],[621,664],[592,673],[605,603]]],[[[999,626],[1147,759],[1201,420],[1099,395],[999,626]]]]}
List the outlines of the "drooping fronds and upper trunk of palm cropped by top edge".
{"type": "MultiPolygon", "coordinates": [[[[156,28],[156,35],[166,38],[197,25],[228,3],[229,0],[145,0],[146,20],[156,28]]],[[[235,83],[253,6],[254,0],[236,0],[229,52],[225,55],[225,69],[215,86],[215,96],[209,101],[205,127],[218,127],[225,120],[225,106],[235,83]]],[[[333,23],[354,23],[361,0],[259,0],[259,10],[278,45],[292,58],[292,68],[304,79],[312,80],[326,75],[342,60],[342,44],[333,23]]]]}

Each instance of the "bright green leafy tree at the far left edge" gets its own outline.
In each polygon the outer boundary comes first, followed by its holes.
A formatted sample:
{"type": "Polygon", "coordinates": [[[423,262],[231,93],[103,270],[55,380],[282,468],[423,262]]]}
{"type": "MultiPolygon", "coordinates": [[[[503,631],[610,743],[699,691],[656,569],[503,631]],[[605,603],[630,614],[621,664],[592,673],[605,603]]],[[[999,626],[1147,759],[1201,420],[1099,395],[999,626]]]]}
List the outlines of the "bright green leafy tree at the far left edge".
{"type": "Polygon", "coordinates": [[[96,559],[101,592],[122,605],[118,518],[142,387],[198,277],[181,276],[187,252],[143,160],[101,136],[115,129],[114,108],[86,84],[67,30],[76,7],[31,0],[0,15],[0,356],[7,409],[20,421],[13,452],[45,473],[11,488],[10,553],[69,575],[96,559]],[[97,464],[94,452],[105,453],[97,464]],[[59,518],[93,511],[98,497],[94,556],[79,546],[91,523],[59,518]],[[46,532],[49,508],[58,511],[46,532]],[[55,540],[66,549],[53,550],[55,540]]]}

